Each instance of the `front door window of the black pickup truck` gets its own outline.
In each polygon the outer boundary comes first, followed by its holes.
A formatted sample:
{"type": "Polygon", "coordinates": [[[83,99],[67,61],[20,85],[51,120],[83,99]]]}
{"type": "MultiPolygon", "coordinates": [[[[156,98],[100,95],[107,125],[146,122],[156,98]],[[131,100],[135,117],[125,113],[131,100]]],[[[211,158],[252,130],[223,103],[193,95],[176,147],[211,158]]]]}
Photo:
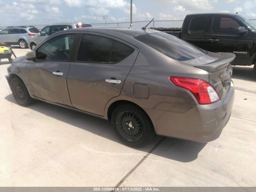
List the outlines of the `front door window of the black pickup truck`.
{"type": "Polygon", "coordinates": [[[241,25],[229,17],[216,16],[212,21],[211,33],[236,34],[241,25]]]}

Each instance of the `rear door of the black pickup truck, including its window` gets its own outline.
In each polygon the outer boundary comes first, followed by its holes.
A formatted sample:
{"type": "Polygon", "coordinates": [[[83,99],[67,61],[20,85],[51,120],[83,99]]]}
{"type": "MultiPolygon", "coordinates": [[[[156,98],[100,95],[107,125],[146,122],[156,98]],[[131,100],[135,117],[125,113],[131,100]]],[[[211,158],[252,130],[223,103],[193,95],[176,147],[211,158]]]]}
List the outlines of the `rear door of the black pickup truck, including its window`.
{"type": "Polygon", "coordinates": [[[183,40],[194,44],[202,49],[206,49],[206,29],[208,27],[209,16],[193,16],[188,24],[184,24],[182,28],[183,40]]]}

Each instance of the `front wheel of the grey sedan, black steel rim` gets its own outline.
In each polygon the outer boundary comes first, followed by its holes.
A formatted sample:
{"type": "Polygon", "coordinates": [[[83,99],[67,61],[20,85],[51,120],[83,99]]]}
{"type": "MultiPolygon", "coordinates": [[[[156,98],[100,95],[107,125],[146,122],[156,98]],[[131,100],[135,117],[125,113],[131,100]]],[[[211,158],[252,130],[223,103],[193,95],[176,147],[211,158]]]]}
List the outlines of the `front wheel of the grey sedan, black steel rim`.
{"type": "Polygon", "coordinates": [[[12,78],[10,87],[14,99],[20,106],[29,106],[34,102],[34,100],[30,97],[26,86],[19,78],[12,78]]]}

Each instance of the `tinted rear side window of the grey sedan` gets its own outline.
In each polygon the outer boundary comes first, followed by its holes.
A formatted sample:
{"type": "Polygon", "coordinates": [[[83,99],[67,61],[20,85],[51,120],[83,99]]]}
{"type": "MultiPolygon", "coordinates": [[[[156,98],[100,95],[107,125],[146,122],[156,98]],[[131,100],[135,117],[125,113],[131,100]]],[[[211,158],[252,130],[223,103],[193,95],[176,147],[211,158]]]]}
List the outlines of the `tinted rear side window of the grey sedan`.
{"type": "Polygon", "coordinates": [[[134,52],[134,49],[110,38],[83,35],[78,61],[118,62],[134,52]]]}

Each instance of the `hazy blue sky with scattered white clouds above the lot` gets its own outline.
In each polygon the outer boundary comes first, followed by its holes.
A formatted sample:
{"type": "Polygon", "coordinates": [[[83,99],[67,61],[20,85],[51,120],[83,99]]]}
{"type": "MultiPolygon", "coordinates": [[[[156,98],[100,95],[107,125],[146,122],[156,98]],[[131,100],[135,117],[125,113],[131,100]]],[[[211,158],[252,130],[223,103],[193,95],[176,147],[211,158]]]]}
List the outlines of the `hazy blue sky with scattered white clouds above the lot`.
{"type": "MultiPolygon", "coordinates": [[[[133,0],[132,7],[133,21],[183,20],[186,14],[205,12],[238,12],[256,19],[256,0],[133,0]]],[[[129,22],[130,0],[0,0],[1,27],[105,23],[103,15],[108,23],[129,22]]]]}

